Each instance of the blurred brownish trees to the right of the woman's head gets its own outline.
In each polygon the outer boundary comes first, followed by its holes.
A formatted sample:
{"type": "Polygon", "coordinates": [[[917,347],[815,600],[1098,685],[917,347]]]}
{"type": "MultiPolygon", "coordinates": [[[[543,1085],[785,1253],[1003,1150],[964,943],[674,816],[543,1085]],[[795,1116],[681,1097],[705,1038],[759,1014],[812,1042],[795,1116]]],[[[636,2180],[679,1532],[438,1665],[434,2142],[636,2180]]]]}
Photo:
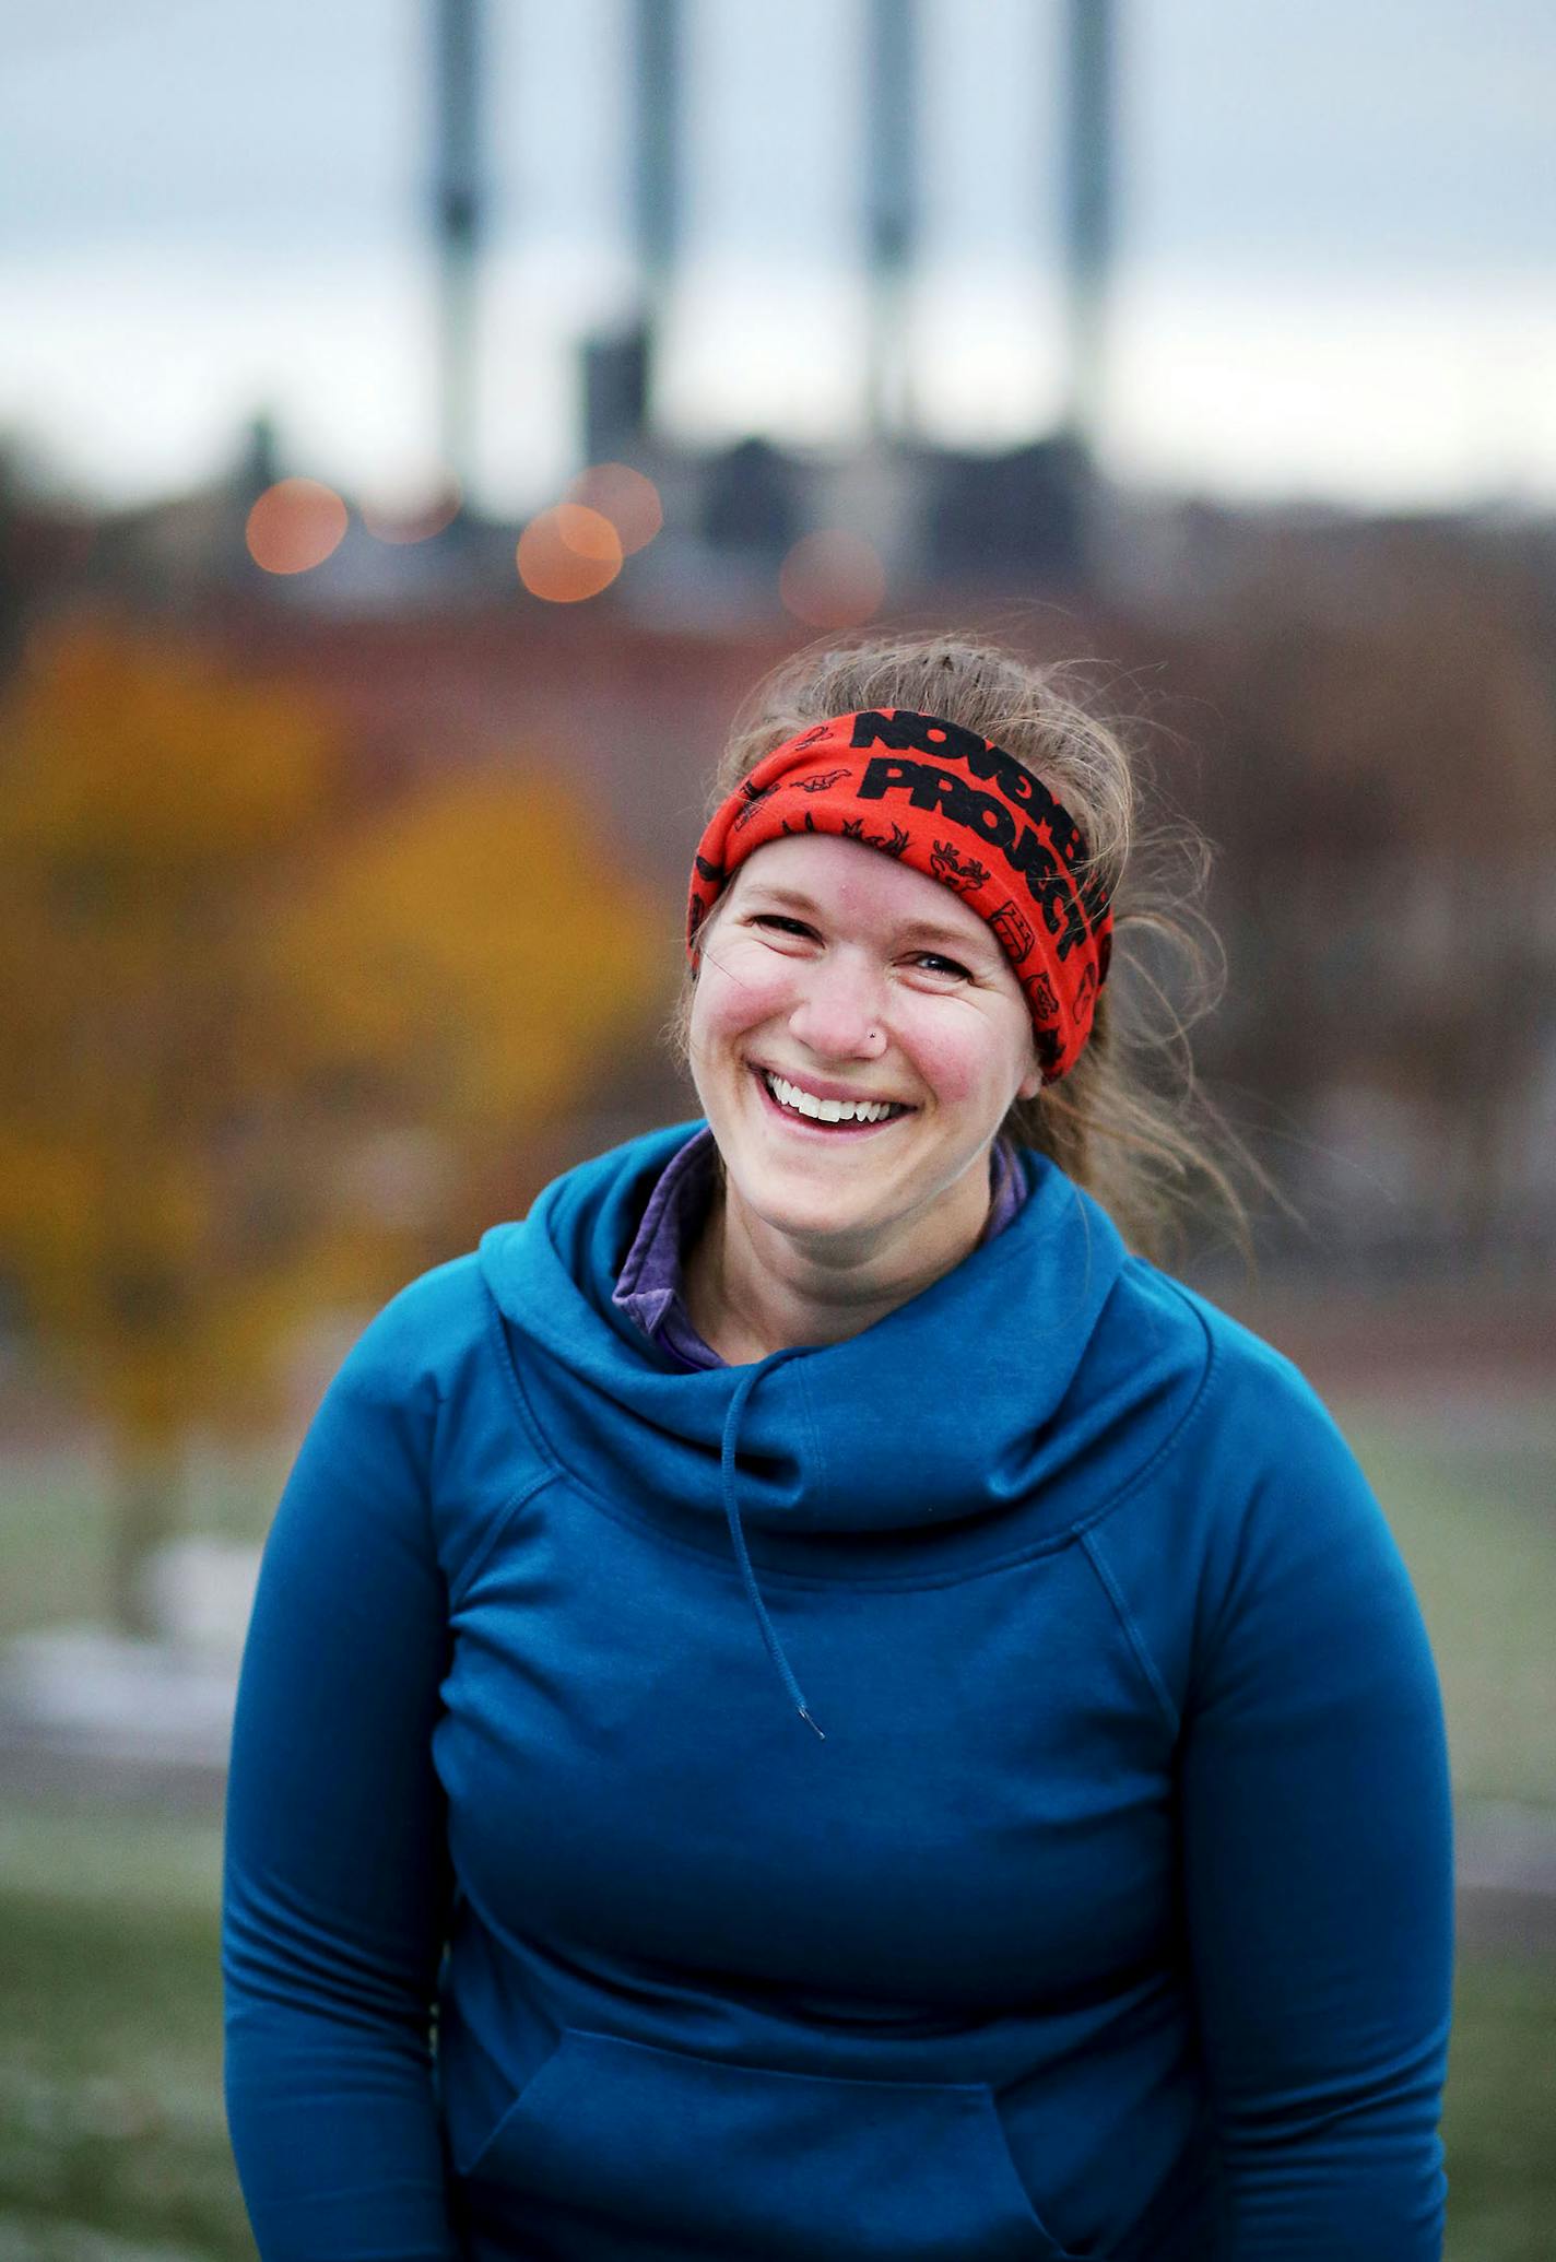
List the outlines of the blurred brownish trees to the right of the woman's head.
{"type": "Polygon", "coordinates": [[[1217,844],[1212,1083],[1362,1283],[1551,1278],[1556,543],[1472,523],[1212,543],[1140,622],[1217,844]]]}

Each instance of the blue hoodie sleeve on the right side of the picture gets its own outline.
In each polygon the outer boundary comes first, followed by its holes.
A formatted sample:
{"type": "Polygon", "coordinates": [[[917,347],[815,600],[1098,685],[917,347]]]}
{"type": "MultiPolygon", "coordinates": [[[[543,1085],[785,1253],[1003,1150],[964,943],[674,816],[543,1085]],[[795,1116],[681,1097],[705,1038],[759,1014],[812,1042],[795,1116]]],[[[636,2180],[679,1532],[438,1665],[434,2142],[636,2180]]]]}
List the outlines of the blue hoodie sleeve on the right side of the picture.
{"type": "MultiPolygon", "coordinates": [[[[1436,1669],[1362,1470],[1309,1396],[1201,1590],[1183,1884],[1224,2262],[1436,2262],[1452,1823],[1436,1669]]],[[[1278,1448],[1271,1452],[1271,1443],[1278,1448]]]]}

